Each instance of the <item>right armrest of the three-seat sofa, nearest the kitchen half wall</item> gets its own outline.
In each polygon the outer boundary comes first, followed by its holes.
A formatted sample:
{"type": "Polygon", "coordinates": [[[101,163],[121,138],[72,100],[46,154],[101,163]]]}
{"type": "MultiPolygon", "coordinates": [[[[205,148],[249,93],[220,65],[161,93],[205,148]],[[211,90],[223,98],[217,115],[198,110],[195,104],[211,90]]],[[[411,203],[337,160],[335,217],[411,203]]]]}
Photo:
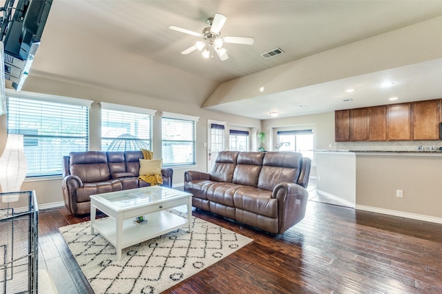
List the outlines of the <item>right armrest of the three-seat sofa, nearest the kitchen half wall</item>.
{"type": "Polygon", "coordinates": [[[280,183],[273,188],[272,198],[278,199],[278,233],[284,233],[305,217],[308,191],[295,183],[280,183]]]}

